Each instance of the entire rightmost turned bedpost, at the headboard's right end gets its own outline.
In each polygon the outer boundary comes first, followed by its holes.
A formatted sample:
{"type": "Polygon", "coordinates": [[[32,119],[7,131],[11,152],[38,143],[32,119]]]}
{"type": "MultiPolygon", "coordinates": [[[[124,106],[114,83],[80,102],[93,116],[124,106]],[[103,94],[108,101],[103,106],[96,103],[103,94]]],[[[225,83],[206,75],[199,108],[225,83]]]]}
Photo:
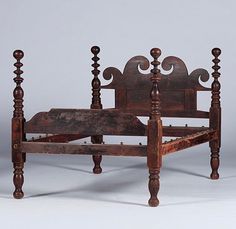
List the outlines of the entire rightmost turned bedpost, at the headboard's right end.
{"type": "Polygon", "coordinates": [[[221,54],[219,48],[212,49],[212,55],[214,59],[212,60],[214,65],[212,66],[213,72],[212,77],[214,78],[211,85],[211,107],[210,107],[210,128],[217,131],[218,138],[210,142],[211,148],[211,179],[218,179],[219,173],[218,168],[220,165],[219,151],[220,151],[220,138],[221,138],[221,107],[220,107],[220,82],[218,78],[220,77],[220,59],[218,58],[221,54]]]}

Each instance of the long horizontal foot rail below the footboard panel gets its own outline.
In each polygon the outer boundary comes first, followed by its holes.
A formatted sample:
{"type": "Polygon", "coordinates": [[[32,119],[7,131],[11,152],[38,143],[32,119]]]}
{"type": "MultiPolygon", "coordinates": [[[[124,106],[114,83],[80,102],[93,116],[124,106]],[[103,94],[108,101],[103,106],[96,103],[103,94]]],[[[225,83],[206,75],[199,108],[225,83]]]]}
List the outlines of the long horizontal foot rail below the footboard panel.
{"type": "Polygon", "coordinates": [[[70,143],[22,142],[21,150],[26,153],[48,154],[84,154],[84,155],[114,155],[114,156],[141,156],[147,155],[147,146],[144,145],[79,145],[70,143]]]}

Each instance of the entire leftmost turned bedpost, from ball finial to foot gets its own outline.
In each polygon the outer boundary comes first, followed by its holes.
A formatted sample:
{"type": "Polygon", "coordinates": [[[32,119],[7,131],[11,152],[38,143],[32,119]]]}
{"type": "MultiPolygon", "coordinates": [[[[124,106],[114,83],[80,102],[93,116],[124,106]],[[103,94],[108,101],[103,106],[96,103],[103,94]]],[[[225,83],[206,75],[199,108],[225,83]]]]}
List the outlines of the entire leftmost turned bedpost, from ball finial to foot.
{"type": "Polygon", "coordinates": [[[14,78],[16,87],[13,91],[14,111],[12,118],[12,162],[14,167],[13,183],[15,185],[13,196],[16,199],[20,199],[24,196],[22,186],[24,183],[23,167],[25,162],[25,153],[21,152],[21,142],[25,139],[25,118],[23,111],[24,91],[21,87],[21,83],[23,82],[23,78],[21,77],[23,73],[21,70],[21,67],[23,66],[21,59],[24,57],[24,53],[21,50],[16,50],[14,51],[13,56],[16,59],[16,63],[14,64],[16,67],[16,70],[14,71],[16,75],[14,78]]]}

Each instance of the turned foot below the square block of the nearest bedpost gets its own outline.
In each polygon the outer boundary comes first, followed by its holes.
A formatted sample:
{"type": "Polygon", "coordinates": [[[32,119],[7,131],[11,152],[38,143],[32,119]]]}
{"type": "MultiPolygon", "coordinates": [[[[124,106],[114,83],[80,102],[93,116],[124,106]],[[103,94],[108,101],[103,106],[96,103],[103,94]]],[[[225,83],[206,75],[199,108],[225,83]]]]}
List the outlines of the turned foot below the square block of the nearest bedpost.
{"type": "Polygon", "coordinates": [[[157,194],[160,187],[159,173],[160,173],[160,169],[149,169],[150,175],[149,175],[148,188],[149,188],[151,197],[148,201],[148,204],[151,207],[156,207],[159,205],[159,200],[157,198],[157,194]]]}

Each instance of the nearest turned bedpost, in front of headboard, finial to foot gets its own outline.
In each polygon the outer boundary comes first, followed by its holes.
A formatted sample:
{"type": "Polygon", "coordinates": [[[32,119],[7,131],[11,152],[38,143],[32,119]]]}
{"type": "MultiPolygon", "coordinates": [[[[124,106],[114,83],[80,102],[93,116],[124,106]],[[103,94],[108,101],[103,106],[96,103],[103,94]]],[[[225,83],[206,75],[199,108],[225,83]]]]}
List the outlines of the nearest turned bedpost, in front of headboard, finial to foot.
{"type": "Polygon", "coordinates": [[[148,120],[148,133],[147,133],[147,164],[149,168],[149,192],[150,199],[148,201],[149,205],[156,207],[159,204],[157,194],[159,191],[159,174],[161,168],[161,144],[162,144],[162,121],[160,112],[160,91],[158,83],[161,80],[161,73],[158,66],[160,62],[158,57],[161,55],[161,50],[158,48],[153,48],[150,52],[153,57],[151,64],[153,69],[151,70],[152,76],[152,89],[150,93],[151,98],[151,111],[148,120]]]}

